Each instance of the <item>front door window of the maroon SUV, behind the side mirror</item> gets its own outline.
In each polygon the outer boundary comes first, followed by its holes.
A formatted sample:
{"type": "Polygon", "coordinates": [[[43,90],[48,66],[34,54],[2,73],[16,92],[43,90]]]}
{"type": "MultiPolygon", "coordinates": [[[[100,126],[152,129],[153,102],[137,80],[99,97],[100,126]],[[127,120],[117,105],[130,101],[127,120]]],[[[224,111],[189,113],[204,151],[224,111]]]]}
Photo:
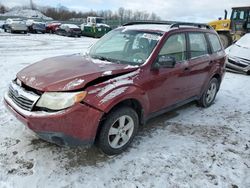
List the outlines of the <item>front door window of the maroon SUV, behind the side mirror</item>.
{"type": "Polygon", "coordinates": [[[173,57],[175,60],[186,60],[186,38],[185,34],[174,34],[170,36],[162,47],[159,56],[173,57]]]}

